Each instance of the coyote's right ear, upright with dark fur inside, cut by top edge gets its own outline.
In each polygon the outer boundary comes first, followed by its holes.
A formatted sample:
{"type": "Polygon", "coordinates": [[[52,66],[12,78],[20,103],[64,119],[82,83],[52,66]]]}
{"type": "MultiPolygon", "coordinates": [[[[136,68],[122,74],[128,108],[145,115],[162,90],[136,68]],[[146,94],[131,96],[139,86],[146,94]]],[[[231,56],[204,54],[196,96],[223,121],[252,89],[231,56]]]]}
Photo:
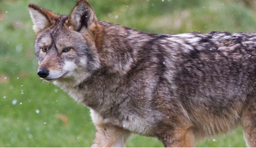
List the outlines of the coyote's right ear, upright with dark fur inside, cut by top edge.
{"type": "Polygon", "coordinates": [[[95,13],[89,2],[79,0],[67,20],[70,29],[82,34],[88,32],[97,22],[95,13]]]}

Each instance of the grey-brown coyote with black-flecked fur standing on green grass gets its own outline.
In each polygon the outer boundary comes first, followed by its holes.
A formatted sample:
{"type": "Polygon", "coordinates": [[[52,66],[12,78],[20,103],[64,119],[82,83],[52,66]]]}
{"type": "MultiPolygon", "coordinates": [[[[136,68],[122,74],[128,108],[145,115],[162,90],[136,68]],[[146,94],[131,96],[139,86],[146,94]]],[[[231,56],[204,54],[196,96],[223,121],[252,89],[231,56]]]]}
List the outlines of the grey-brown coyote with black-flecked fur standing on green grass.
{"type": "Polygon", "coordinates": [[[256,33],[145,33],[97,21],[86,0],[68,16],[29,11],[37,74],[90,109],[92,147],[125,147],[131,133],[195,147],[240,124],[256,147],[256,33]]]}

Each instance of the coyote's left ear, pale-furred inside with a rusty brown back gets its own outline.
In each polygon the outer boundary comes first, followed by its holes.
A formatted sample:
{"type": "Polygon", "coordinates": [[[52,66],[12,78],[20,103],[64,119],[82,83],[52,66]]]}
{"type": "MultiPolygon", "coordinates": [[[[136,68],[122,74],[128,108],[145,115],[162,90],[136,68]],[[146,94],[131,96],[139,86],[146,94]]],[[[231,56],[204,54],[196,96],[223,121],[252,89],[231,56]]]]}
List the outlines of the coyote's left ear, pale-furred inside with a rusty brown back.
{"type": "Polygon", "coordinates": [[[53,12],[40,8],[35,4],[29,4],[29,12],[34,23],[33,29],[37,35],[54,24],[57,16],[53,12]]]}

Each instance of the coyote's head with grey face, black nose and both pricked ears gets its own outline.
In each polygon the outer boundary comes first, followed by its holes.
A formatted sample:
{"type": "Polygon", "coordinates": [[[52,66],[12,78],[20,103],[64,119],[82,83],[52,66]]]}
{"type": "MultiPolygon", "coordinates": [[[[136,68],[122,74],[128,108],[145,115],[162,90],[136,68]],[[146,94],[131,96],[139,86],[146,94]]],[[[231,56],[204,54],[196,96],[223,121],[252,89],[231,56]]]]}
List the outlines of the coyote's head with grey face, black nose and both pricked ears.
{"type": "Polygon", "coordinates": [[[47,81],[90,76],[99,68],[96,51],[97,19],[86,0],[79,0],[69,16],[29,4],[37,39],[38,75],[47,81]]]}

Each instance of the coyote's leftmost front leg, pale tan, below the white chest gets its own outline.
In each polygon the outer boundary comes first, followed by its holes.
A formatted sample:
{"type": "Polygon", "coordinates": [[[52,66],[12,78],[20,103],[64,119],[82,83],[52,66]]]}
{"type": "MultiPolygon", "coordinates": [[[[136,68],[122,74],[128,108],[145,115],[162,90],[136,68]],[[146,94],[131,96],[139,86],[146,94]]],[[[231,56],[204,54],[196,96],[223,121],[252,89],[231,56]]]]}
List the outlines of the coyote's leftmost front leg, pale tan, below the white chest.
{"type": "Polygon", "coordinates": [[[112,125],[95,125],[95,140],[91,147],[126,147],[128,130],[112,125]]]}

